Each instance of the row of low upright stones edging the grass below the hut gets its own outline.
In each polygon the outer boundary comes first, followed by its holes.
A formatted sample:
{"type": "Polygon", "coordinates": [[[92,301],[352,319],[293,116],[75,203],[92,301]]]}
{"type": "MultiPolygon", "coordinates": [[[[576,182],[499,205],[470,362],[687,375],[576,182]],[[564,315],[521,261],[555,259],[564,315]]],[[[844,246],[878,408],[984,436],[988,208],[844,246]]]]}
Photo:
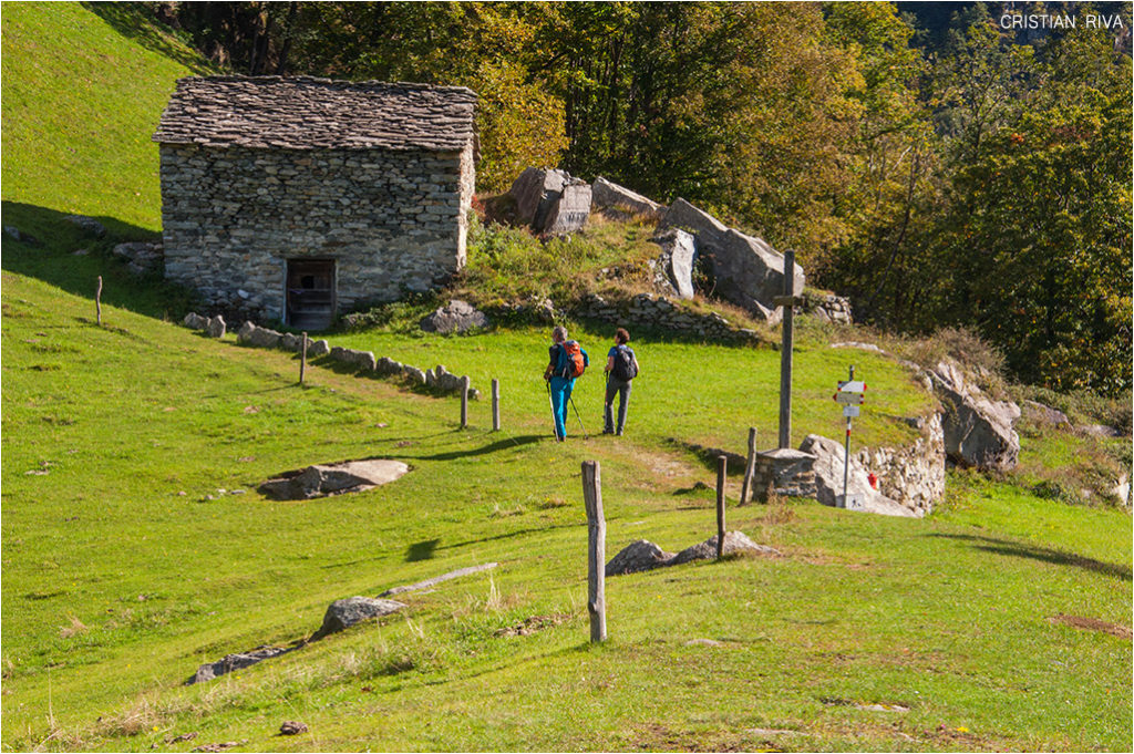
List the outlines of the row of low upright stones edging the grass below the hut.
{"type": "MultiPolygon", "coordinates": [[[[183,321],[185,327],[194,330],[203,330],[213,337],[225,334],[223,323],[225,320],[220,316],[204,317],[195,313],[187,314],[183,321]],[[220,330],[219,334],[214,334],[218,332],[218,320],[220,321],[220,330]]],[[[303,336],[261,328],[251,320],[246,321],[237,330],[236,341],[243,346],[251,346],[253,348],[279,348],[295,354],[303,350],[303,336]]],[[[327,340],[308,339],[307,356],[310,358],[328,356],[341,364],[356,366],[362,374],[373,373],[379,376],[400,376],[414,387],[424,387],[437,392],[460,392],[464,383],[463,376],[446,371],[441,364],[431,370],[420,370],[416,366],[396,362],[388,356],[378,358],[369,350],[331,346],[327,340]]],[[[481,397],[481,391],[469,388],[468,397],[475,400],[481,397]]]]}

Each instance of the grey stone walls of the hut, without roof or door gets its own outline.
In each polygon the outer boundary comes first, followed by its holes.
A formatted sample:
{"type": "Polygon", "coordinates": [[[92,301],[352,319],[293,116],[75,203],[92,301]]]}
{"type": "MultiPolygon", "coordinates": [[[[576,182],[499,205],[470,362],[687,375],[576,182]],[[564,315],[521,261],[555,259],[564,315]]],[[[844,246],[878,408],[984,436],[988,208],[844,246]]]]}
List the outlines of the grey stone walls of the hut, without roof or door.
{"type": "Polygon", "coordinates": [[[288,260],[336,262],[337,310],[438,285],[465,263],[464,152],[161,145],[166,277],[213,307],[282,320],[288,260]]]}

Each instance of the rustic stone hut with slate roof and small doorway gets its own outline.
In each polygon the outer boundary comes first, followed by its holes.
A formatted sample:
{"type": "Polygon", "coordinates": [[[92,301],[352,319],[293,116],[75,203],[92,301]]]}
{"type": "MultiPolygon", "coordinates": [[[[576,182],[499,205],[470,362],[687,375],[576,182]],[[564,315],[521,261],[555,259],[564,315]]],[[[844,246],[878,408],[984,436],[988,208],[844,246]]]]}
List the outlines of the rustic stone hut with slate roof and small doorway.
{"type": "Polygon", "coordinates": [[[476,95],[310,77],[177,83],[160,144],[166,277],[328,327],[464,266],[476,95]]]}

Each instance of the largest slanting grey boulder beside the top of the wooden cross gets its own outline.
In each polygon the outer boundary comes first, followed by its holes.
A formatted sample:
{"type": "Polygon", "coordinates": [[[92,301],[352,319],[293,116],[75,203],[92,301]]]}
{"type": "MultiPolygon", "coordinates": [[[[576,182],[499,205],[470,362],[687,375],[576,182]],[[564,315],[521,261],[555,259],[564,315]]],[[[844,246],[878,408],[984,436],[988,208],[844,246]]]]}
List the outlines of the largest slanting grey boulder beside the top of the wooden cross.
{"type": "MultiPolygon", "coordinates": [[[[780,312],[772,299],[784,294],[784,255],[761,238],[727,228],[717,218],[685,200],[666,212],[659,230],[683,228],[696,239],[697,256],[705,260],[713,279],[713,295],[742,306],[768,322],[778,322],[780,312]]],[[[793,294],[803,293],[803,268],[794,268],[793,294]]]]}

